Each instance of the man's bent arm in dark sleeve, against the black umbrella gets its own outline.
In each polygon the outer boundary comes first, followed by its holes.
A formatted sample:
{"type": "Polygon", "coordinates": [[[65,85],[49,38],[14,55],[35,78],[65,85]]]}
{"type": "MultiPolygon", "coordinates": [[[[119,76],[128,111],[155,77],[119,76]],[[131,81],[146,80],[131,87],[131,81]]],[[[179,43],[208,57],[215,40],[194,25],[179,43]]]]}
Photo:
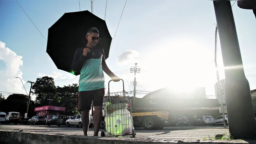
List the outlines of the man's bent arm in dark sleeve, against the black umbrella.
{"type": "Polygon", "coordinates": [[[84,62],[85,62],[86,56],[83,55],[83,51],[80,49],[77,49],[75,51],[75,55],[72,62],[72,70],[74,72],[80,71],[84,62]]]}

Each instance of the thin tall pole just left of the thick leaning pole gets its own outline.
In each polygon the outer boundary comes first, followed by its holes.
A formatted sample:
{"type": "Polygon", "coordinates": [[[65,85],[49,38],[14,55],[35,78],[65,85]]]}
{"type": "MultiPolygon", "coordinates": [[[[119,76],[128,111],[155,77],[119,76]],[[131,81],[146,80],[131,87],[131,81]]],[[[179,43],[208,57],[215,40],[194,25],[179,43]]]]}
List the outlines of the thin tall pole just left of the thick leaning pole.
{"type": "Polygon", "coordinates": [[[223,117],[223,124],[224,124],[224,127],[226,127],[222,95],[220,94],[220,90],[221,90],[220,77],[219,77],[219,71],[218,71],[218,65],[217,65],[217,31],[218,31],[218,25],[216,25],[216,29],[215,29],[215,58],[214,58],[215,68],[216,68],[216,73],[217,73],[217,82],[218,82],[218,87],[217,86],[216,87],[217,87],[218,99],[220,98],[220,100],[221,100],[221,112],[222,112],[222,117],[223,117]]]}

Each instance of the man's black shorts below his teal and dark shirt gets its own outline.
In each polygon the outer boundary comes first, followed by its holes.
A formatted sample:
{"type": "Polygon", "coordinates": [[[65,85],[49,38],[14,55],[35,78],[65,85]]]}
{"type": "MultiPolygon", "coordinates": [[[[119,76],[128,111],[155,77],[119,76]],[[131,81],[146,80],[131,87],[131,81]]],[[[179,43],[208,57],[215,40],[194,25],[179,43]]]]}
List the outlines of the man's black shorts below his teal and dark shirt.
{"type": "Polygon", "coordinates": [[[102,106],[105,95],[105,88],[79,91],[78,94],[78,109],[79,110],[91,110],[92,101],[94,106],[102,106]]]}

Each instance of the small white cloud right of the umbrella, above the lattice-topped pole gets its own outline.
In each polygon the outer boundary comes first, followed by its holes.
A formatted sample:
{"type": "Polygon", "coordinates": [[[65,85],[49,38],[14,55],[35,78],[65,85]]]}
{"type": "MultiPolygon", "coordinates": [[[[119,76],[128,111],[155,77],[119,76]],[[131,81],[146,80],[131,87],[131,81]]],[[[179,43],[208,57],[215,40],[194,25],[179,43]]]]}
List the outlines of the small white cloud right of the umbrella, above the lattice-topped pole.
{"type": "Polygon", "coordinates": [[[117,63],[119,65],[128,65],[130,63],[136,62],[137,61],[136,58],[138,56],[139,56],[139,52],[135,50],[126,50],[117,58],[117,63]]]}

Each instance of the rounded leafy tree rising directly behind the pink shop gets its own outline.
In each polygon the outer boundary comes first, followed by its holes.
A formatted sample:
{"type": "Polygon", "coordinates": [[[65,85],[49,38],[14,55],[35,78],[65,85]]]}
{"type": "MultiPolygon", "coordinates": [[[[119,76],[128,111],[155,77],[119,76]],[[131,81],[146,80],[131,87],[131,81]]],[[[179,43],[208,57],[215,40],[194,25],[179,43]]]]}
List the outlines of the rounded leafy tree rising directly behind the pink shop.
{"type": "MultiPolygon", "coordinates": [[[[56,86],[52,77],[44,76],[37,78],[32,89],[34,90],[33,95],[36,95],[36,102],[40,106],[49,105],[47,99],[59,101],[58,97],[56,97],[56,86]]],[[[51,103],[54,104],[55,102],[51,101],[51,103]]]]}

